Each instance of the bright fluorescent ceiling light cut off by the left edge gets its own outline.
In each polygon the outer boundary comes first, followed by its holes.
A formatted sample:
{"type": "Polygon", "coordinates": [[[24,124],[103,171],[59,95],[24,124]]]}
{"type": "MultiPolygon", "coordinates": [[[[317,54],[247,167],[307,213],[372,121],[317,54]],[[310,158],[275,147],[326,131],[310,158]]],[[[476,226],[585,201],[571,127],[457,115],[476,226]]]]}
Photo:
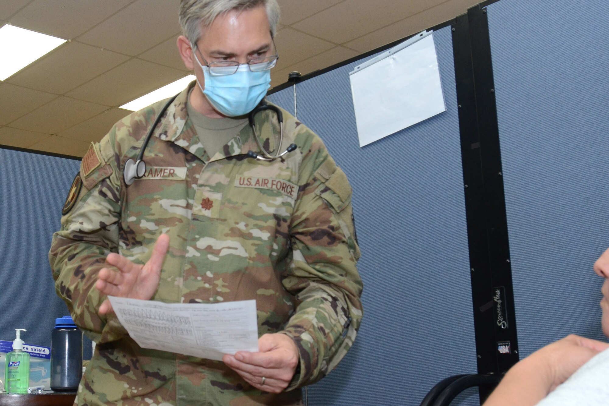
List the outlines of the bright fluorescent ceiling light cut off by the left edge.
{"type": "Polygon", "coordinates": [[[0,80],[12,76],[65,41],[40,32],[5,25],[0,28],[0,80]]]}

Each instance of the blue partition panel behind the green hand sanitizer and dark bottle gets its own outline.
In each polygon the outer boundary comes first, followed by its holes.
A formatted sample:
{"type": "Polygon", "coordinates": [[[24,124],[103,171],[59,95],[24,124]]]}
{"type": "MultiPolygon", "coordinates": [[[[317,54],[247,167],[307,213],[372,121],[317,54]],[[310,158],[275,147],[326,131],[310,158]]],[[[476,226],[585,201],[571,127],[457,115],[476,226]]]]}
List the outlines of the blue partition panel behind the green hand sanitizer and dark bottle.
{"type": "MultiPolygon", "coordinates": [[[[23,328],[27,344],[51,346],[55,318],[69,315],[48,254],[79,168],[78,160],[0,148],[0,340],[23,328]]],[[[83,357],[91,358],[88,338],[83,357]]]]}

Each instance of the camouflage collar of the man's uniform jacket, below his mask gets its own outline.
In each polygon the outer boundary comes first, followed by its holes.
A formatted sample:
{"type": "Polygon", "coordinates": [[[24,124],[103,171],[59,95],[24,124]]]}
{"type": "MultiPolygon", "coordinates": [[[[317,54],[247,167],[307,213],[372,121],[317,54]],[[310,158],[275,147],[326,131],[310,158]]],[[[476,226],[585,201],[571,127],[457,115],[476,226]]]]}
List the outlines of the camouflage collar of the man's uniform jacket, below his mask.
{"type": "MultiPolygon", "coordinates": [[[[245,126],[239,132],[239,135],[232,138],[211,157],[203,148],[203,144],[199,141],[197,132],[192,124],[191,119],[188,117],[188,109],[186,102],[188,93],[197,82],[193,80],[188,87],[178,94],[174,102],[167,107],[166,116],[161,121],[160,129],[154,132],[154,135],[161,140],[170,141],[191,154],[203,162],[217,161],[225,158],[230,158],[236,155],[245,155],[248,151],[260,152],[258,144],[253,137],[253,132],[250,126],[245,126]]],[[[260,141],[265,148],[275,148],[275,137],[280,134],[280,125],[277,121],[275,113],[266,110],[258,113],[255,119],[256,134],[260,137],[260,141]]],[[[275,152],[272,152],[275,154],[275,152]]]]}

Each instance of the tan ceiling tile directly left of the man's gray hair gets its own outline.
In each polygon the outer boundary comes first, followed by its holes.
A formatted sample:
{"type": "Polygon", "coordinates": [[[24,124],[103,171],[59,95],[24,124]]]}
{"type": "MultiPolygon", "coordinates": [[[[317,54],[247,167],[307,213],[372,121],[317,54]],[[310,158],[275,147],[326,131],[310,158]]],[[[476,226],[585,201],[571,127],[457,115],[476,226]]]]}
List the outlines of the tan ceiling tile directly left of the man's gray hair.
{"type": "Polygon", "coordinates": [[[178,0],[138,0],[78,38],[128,55],[160,44],[180,32],[178,0]]]}

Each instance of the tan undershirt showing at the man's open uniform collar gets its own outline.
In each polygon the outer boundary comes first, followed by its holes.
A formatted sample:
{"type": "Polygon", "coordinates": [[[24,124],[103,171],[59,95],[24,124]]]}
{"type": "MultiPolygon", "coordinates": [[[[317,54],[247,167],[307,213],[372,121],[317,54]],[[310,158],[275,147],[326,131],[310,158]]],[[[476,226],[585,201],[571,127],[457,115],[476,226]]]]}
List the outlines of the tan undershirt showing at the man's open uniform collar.
{"type": "Polygon", "coordinates": [[[190,93],[187,100],[188,116],[192,120],[199,141],[203,144],[209,158],[212,158],[228,141],[236,137],[247,124],[247,116],[211,118],[203,115],[192,107],[190,93]]]}

